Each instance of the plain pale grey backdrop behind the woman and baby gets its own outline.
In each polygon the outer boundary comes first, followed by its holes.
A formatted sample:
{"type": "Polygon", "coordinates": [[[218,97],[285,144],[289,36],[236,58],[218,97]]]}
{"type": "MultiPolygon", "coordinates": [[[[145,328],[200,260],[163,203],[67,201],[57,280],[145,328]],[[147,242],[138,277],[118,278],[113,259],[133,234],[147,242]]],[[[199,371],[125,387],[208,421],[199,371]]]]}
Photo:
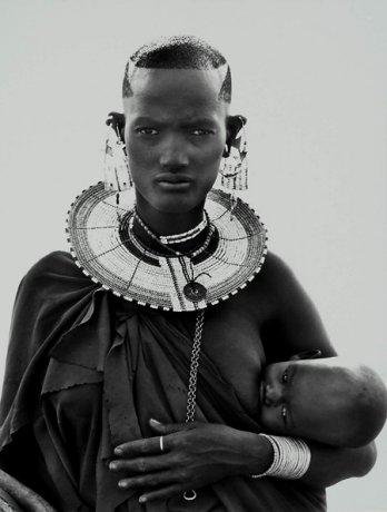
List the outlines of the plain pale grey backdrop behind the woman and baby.
{"type": "MultiPolygon", "coordinates": [[[[1,341],[18,282],[66,248],[66,211],[102,178],[106,114],[128,55],[160,35],[229,58],[248,117],[247,199],[295,269],[339,353],[387,381],[385,0],[1,0],[1,341]]],[[[2,370],[1,370],[2,373],[2,370]]],[[[330,512],[387,511],[387,436],[330,512]]]]}

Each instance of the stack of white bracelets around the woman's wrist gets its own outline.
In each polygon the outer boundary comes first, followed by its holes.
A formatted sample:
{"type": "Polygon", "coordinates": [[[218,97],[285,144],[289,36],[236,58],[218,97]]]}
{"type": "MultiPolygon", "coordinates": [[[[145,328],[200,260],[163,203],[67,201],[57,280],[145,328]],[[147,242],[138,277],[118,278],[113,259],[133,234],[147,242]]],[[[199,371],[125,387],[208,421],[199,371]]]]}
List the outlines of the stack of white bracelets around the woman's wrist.
{"type": "Polygon", "coordinates": [[[302,440],[277,435],[259,435],[270,442],[274,459],[268,470],[260,474],[251,474],[251,479],[275,476],[284,480],[297,480],[308,471],[310,465],[310,450],[302,440]]]}

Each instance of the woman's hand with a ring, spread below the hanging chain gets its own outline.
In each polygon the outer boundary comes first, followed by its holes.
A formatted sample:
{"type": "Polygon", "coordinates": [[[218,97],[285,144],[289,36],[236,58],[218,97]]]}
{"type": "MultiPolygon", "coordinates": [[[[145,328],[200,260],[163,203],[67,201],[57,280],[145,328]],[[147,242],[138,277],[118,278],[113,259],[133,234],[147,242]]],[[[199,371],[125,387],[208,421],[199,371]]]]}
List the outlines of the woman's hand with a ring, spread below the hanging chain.
{"type": "Polygon", "coordinates": [[[120,459],[109,465],[126,474],[119,488],[146,490],[142,503],[265,471],[271,463],[271,447],[258,442],[257,434],[199,422],[167,425],[150,420],[149,425],[158,435],[117,446],[120,459]]]}

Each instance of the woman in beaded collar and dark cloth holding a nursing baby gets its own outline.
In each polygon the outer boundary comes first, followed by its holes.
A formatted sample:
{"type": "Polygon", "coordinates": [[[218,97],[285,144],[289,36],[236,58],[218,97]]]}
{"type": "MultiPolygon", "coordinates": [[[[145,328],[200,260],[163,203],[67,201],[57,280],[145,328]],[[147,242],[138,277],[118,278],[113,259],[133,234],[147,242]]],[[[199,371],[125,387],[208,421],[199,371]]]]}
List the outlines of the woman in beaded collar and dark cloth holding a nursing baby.
{"type": "Polygon", "coordinates": [[[63,511],[322,511],[374,446],[259,433],[261,367],[335,351],[259,219],[211,190],[220,167],[245,187],[229,67],[171,38],[131,57],[122,91],[105,189],[69,214],[77,265],[53,253],[18,292],[2,466],[63,511]]]}

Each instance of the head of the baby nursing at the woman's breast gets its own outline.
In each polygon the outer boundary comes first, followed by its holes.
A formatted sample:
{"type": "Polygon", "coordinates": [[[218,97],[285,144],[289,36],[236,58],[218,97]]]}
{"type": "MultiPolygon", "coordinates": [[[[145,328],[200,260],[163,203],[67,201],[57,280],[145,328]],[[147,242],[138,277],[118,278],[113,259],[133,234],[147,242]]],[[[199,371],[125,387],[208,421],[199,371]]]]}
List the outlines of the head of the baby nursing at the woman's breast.
{"type": "Polygon", "coordinates": [[[260,387],[265,432],[360,446],[380,432],[387,391],[368,366],[338,357],[274,363],[260,387]]]}

